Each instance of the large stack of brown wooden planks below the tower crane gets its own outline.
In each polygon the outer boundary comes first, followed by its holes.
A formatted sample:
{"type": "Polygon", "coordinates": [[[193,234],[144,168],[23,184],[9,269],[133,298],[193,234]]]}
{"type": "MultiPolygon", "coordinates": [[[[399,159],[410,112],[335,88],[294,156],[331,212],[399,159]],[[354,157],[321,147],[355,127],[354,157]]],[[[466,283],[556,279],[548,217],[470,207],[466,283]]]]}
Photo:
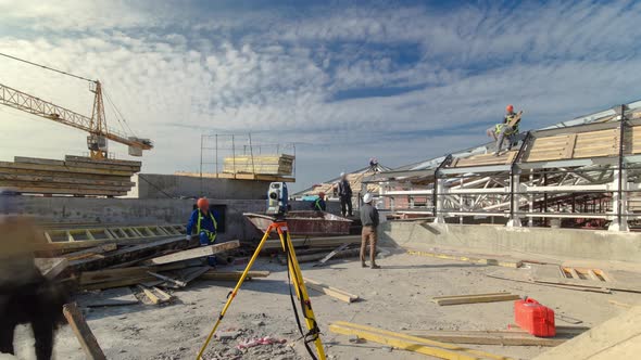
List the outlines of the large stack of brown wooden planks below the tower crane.
{"type": "Polygon", "coordinates": [[[126,195],[140,162],[65,156],[64,160],[14,157],[0,162],[0,187],[21,193],[52,195],[126,195]]]}

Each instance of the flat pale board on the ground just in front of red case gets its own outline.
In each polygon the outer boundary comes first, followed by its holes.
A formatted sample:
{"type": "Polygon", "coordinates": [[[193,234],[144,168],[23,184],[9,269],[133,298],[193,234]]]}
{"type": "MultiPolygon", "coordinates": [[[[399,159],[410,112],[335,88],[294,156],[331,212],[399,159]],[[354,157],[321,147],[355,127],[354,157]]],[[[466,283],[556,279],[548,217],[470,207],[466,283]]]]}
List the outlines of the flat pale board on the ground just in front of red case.
{"type": "MultiPolygon", "coordinates": [[[[580,327],[581,332],[589,329],[580,327]]],[[[537,337],[525,331],[441,331],[441,330],[417,330],[404,331],[404,333],[428,338],[431,340],[451,343],[451,344],[476,344],[476,345],[501,345],[501,346],[557,346],[569,338],[580,334],[580,332],[569,330],[565,331],[564,326],[556,326],[555,337],[537,337]]]]}

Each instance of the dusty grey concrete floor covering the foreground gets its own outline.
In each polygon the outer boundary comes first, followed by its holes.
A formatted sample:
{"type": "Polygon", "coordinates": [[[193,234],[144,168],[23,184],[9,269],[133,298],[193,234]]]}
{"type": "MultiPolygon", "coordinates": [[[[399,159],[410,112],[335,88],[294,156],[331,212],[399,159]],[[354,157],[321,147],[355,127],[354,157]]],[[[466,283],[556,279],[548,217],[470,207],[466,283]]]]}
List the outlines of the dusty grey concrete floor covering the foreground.
{"type": "MultiPolygon", "coordinates": [[[[439,307],[432,296],[512,292],[533,297],[563,313],[593,326],[626,309],[609,304],[641,303],[640,294],[613,295],[518,283],[485,275],[497,267],[393,254],[379,261],[382,269],[363,269],[357,260],[331,261],[325,268],[303,265],[305,277],[360,295],[363,300],[345,304],[311,291],[313,308],[323,331],[329,359],[427,359],[403,350],[389,350],[376,343],[352,344],[349,337],[330,333],[331,321],[343,320],[390,331],[405,330],[503,330],[513,323],[513,303],[439,307]]],[[[246,283],[221,330],[237,333],[222,343],[214,339],[206,359],[307,359],[293,319],[285,267],[261,258],[255,270],[271,270],[266,279],[246,283]],[[235,346],[243,338],[272,336],[294,343],[259,346],[242,352],[235,346]]],[[[225,270],[242,270],[231,267],[225,270]]],[[[514,270],[518,271],[518,270],[514,270]]],[[[192,359],[214,324],[234,283],[200,281],[176,292],[176,304],[163,307],[134,305],[92,309],[87,318],[109,359],[192,359]]],[[[560,325],[569,325],[557,320],[560,325]]],[[[21,359],[33,359],[30,331],[21,326],[16,348],[21,359]]],[[[478,346],[486,351],[530,359],[546,348],[478,346]]],[[[84,359],[68,326],[56,335],[56,359],[84,359]]]]}

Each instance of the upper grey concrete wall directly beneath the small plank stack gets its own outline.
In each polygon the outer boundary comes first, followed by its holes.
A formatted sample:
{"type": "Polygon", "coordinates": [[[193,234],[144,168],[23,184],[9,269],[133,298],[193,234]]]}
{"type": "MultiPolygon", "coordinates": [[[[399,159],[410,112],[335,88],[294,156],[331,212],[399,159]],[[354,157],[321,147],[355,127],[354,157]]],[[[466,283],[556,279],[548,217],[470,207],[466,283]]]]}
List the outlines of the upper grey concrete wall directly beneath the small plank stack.
{"type": "Polygon", "coordinates": [[[268,181],[211,179],[179,175],[137,173],[131,177],[136,183],[126,197],[168,198],[267,198],[268,181]],[[202,189],[202,191],[201,191],[202,189]]]}

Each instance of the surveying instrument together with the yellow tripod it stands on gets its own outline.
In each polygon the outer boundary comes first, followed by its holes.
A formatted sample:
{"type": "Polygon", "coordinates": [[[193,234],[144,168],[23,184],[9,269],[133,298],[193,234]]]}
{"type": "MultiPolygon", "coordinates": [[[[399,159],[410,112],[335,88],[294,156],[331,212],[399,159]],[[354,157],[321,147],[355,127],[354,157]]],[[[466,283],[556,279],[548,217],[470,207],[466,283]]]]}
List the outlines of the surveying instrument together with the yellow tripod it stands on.
{"type": "Polygon", "coordinates": [[[277,232],[278,237],[280,237],[280,244],[282,245],[282,250],[287,254],[287,278],[289,280],[289,296],[291,298],[291,306],[293,308],[294,318],[301,332],[301,338],[304,340],[305,348],[307,352],[310,352],[310,357],[314,360],[326,360],[325,357],[325,349],[323,348],[323,343],[320,342],[320,331],[318,330],[318,324],[316,323],[316,318],[314,317],[314,311],[312,311],[312,303],[310,301],[310,295],[307,294],[307,288],[305,287],[305,283],[303,281],[303,273],[301,272],[301,268],[299,266],[299,261],[296,258],[296,252],[293,249],[293,244],[291,242],[291,237],[289,235],[289,228],[287,226],[286,215],[289,209],[288,204],[288,192],[287,192],[287,184],[285,182],[272,182],[269,184],[269,190],[267,191],[267,215],[273,216],[272,223],[265,230],[265,234],[263,239],[259,243],[254,255],[249,260],[247,268],[240,275],[240,280],[236,284],[236,287],[229,293],[227,296],[227,303],[223,307],[214,327],[210,332],[204,345],[200,349],[198,353],[197,360],[202,359],[202,355],[204,353],[208,345],[210,344],[214,333],[218,329],[221,321],[225,317],[225,313],[229,309],[231,301],[238,294],[240,286],[247,279],[247,274],[249,273],[251,267],[253,266],[254,261],[259,257],[259,254],[263,249],[263,245],[269,237],[272,232],[277,232]],[[296,290],[296,296],[300,303],[301,312],[304,317],[305,324],[307,326],[307,332],[303,331],[303,326],[301,320],[299,318],[299,312],[296,306],[296,299],[293,293],[291,292],[291,284],[293,284],[293,288],[296,290]],[[316,347],[316,353],[310,346],[311,343],[314,343],[316,347]]]}

